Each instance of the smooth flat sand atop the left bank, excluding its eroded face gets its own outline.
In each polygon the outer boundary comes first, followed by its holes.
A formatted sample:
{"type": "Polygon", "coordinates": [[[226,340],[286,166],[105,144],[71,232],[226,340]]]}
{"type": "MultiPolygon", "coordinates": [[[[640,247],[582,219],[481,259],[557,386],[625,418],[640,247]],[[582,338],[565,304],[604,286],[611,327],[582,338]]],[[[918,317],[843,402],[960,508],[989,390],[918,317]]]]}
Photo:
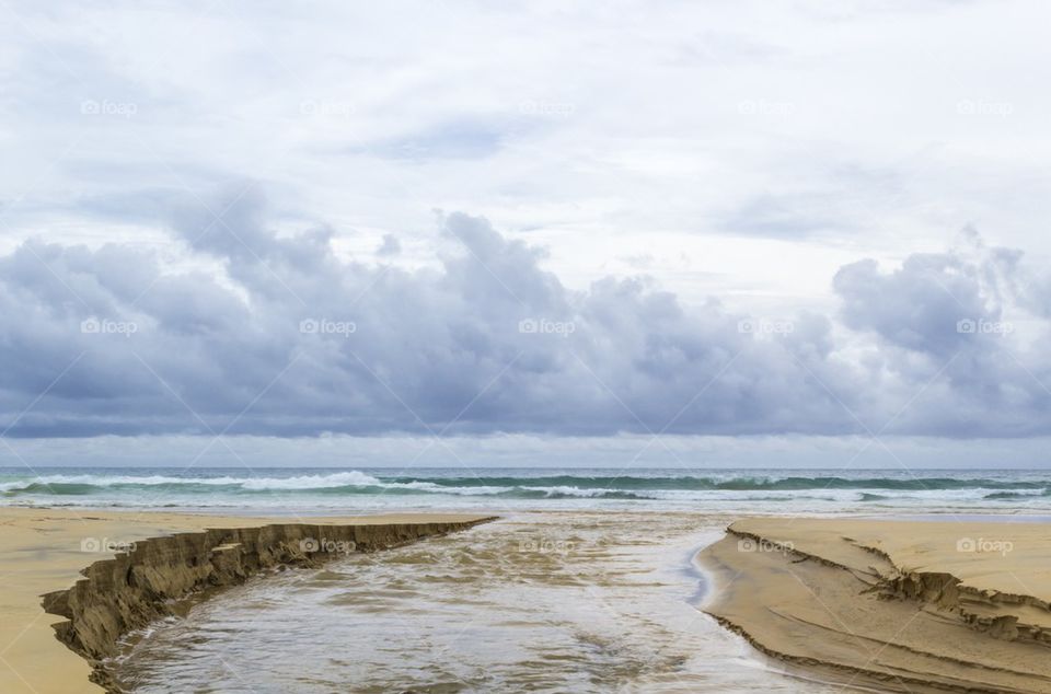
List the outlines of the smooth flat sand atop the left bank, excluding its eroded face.
{"type": "MultiPolygon", "coordinates": [[[[477,516],[386,514],[351,518],[312,518],[313,524],[406,525],[463,523],[477,516]]],[[[162,512],[68,511],[0,509],[0,692],[76,694],[102,692],[89,681],[88,660],[56,638],[53,624],[61,617],[43,610],[41,597],[70,588],[80,571],[114,551],[150,537],[205,529],[288,524],[290,519],[196,516],[162,512]]]]}

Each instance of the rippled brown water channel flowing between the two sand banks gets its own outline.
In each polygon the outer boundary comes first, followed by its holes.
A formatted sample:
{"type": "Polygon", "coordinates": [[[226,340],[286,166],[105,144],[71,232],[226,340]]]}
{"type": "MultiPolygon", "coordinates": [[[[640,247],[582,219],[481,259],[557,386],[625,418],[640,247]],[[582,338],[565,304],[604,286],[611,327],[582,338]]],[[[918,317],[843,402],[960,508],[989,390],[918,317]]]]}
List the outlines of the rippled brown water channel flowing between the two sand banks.
{"type": "MultiPolygon", "coordinates": [[[[137,692],[818,692],[695,609],[685,513],[541,513],[257,579],[157,626],[137,692]]],[[[828,691],[833,691],[829,687],[828,691]]]]}

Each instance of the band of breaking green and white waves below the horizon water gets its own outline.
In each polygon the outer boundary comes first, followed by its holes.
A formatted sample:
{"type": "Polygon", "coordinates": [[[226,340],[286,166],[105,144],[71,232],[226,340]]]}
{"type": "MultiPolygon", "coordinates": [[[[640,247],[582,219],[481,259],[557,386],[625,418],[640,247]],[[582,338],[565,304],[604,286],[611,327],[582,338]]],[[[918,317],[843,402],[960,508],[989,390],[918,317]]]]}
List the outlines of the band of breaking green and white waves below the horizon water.
{"type": "MultiPolygon", "coordinates": [[[[246,473],[249,471],[245,471],[246,473]]],[[[262,471],[261,471],[262,473],[262,471]]],[[[806,502],[807,500],[850,505],[857,502],[981,504],[982,501],[1023,502],[1051,495],[1051,481],[1036,474],[1024,478],[995,473],[972,477],[923,476],[813,476],[787,474],[705,473],[619,475],[601,474],[481,474],[476,476],[384,474],[361,472],[303,471],[280,475],[236,474],[231,471],[186,471],[165,474],[77,473],[39,476],[0,474],[0,496],[10,501],[58,500],[71,497],[77,502],[109,499],[114,504],[135,502],[138,497],[166,504],[193,499],[201,504],[222,497],[244,499],[339,497],[453,497],[489,499],[596,499],[656,500],[674,502],[806,502]],[[1006,477],[1006,478],[1005,478],[1006,477]]]]}

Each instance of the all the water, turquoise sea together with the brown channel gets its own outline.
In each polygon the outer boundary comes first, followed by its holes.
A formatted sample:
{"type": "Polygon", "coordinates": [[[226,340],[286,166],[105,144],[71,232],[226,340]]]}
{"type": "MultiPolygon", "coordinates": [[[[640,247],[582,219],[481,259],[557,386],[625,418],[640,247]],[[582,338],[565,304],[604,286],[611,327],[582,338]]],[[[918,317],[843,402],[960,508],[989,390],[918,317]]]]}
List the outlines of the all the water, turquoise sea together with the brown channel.
{"type": "MultiPolygon", "coordinates": [[[[1051,516],[1047,471],[5,469],[0,502],[499,520],[261,576],[128,635],[124,691],[863,691],[755,651],[704,612],[696,556],[744,513],[1051,516]]],[[[870,691],[870,690],[869,690],[870,691]]]]}

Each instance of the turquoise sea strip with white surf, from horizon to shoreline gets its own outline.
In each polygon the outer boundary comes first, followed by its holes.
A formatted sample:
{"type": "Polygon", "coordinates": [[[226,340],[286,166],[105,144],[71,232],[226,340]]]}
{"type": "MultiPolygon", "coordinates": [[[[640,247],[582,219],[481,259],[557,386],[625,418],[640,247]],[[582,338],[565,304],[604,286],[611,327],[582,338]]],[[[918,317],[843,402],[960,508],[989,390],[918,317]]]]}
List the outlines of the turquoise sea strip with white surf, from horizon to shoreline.
{"type": "Polygon", "coordinates": [[[1048,471],[552,469],[4,469],[5,506],[327,512],[652,508],[1051,511],[1048,471]]]}

